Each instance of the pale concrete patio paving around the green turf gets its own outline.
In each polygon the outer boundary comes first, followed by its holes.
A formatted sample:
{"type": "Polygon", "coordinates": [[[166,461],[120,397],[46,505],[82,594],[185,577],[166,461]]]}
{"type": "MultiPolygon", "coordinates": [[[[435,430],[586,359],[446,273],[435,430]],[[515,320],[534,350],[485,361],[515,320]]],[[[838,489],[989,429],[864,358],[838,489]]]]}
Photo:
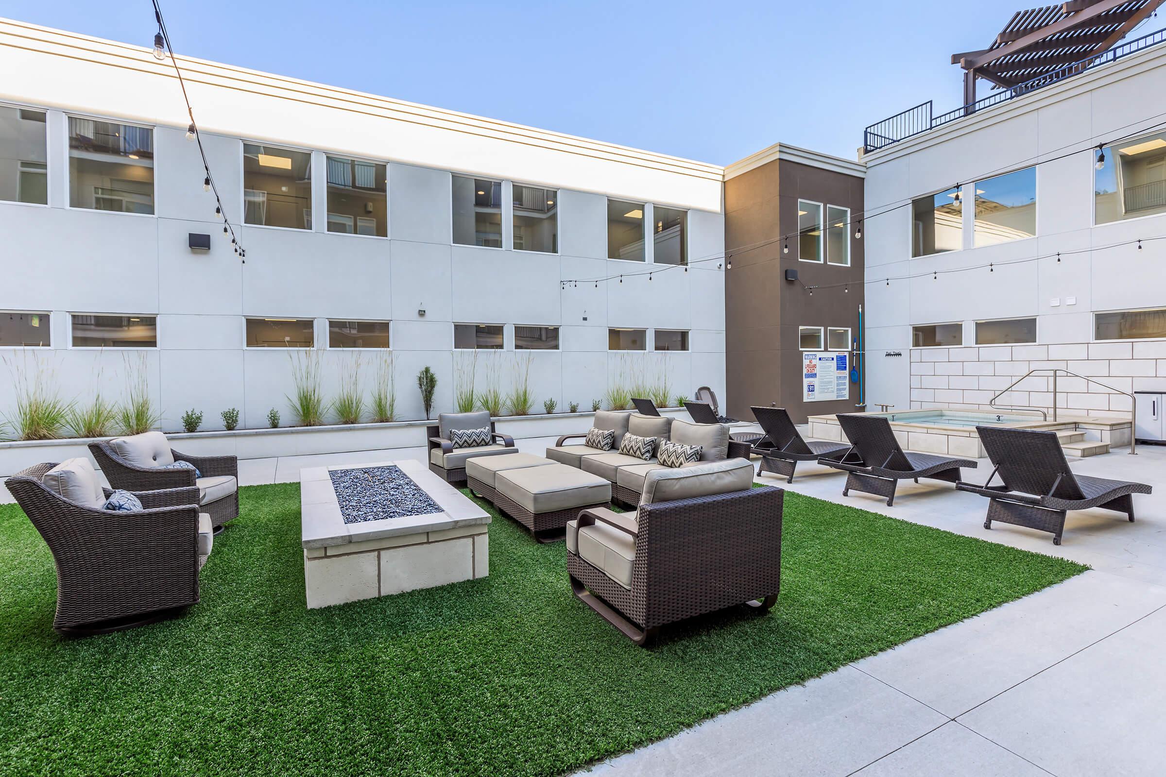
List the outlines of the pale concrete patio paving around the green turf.
{"type": "MultiPolygon", "coordinates": [[[[736,431],[736,430],[735,430],[736,431]]],[[[517,442],[541,453],[553,438],[517,442]]],[[[241,485],[295,482],[302,467],[426,460],[424,447],[239,462],[241,485]]],[[[1166,769],[1166,447],[1074,460],[1075,472],[1140,480],[1138,521],[1073,514],[1051,535],[983,528],[988,501],[923,480],[894,507],[842,496],[844,478],[799,465],[763,482],[948,531],[1061,556],[1093,570],[830,674],[786,688],[589,770],[624,775],[1151,775],[1166,769]]],[[[986,479],[991,465],[965,471],[986,479]]],[[[0,489],[0,501],[10,501],[0,489]]],[[[779,605],[780,607],[780,601],[779,605]]]]}

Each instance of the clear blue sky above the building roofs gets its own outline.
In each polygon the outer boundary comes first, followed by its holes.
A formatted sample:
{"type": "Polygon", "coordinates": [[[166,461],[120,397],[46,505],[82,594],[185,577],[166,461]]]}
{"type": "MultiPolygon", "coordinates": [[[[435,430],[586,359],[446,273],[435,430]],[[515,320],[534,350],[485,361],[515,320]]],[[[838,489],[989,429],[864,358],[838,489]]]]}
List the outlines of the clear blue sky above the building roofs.
{"type": "MultiPolygon", "coordinates": [[[[163,0],[162,12],[180,54],[728,164],[778,141],[854,158],[869,123],[928,99],[957,107],[950,55],[986,47],[1024,6],[163,0]]],[[[0,15],[143,45],[154,35],[146,0],[5,0],[0,15]]]]}

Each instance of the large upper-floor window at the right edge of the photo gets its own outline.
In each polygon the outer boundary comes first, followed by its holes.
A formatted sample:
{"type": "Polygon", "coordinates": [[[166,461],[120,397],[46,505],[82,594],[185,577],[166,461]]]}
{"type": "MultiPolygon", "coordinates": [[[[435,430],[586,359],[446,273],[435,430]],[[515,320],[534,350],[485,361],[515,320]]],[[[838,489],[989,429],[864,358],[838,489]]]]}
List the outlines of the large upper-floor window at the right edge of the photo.
{"type": "Polygon", "coordinates": [[[1122,141],[1095,151],[1097,224],[1166,213],[1166,132],[1122,141]]]}

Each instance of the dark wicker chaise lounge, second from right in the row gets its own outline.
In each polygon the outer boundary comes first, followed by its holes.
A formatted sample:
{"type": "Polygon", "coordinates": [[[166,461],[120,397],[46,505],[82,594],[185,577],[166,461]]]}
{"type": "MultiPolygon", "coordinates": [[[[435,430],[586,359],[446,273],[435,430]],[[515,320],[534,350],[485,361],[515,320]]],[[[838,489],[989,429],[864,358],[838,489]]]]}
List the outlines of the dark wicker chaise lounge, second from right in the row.
{"type": "Polygon", "coordinates": [[[894,504],[894,489],[900,480],[919,481],[920,478],[960,482],[960,467],[975,468],[971,459],[953,459],[929,453],[905,453],[894,438],[891,424],[879,416],[838,414],[838,423],[851,447],[842,458],[821,458],[824,464],[847,473],[850,489],[885,496],[886,506],[894,504]]]}

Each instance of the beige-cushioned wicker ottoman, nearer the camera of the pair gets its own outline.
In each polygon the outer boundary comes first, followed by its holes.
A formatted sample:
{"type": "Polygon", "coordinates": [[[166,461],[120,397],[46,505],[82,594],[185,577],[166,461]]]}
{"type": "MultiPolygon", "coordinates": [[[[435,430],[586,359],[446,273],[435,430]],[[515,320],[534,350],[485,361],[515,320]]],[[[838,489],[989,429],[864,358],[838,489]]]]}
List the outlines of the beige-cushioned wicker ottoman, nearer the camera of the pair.
{"type": "Polygon", "coordinates": [[[562,539],[580,510],[611,502],[611,481],[566,464],[506,469],[494,475],[494,506],[539,542],[562,539]]]}

